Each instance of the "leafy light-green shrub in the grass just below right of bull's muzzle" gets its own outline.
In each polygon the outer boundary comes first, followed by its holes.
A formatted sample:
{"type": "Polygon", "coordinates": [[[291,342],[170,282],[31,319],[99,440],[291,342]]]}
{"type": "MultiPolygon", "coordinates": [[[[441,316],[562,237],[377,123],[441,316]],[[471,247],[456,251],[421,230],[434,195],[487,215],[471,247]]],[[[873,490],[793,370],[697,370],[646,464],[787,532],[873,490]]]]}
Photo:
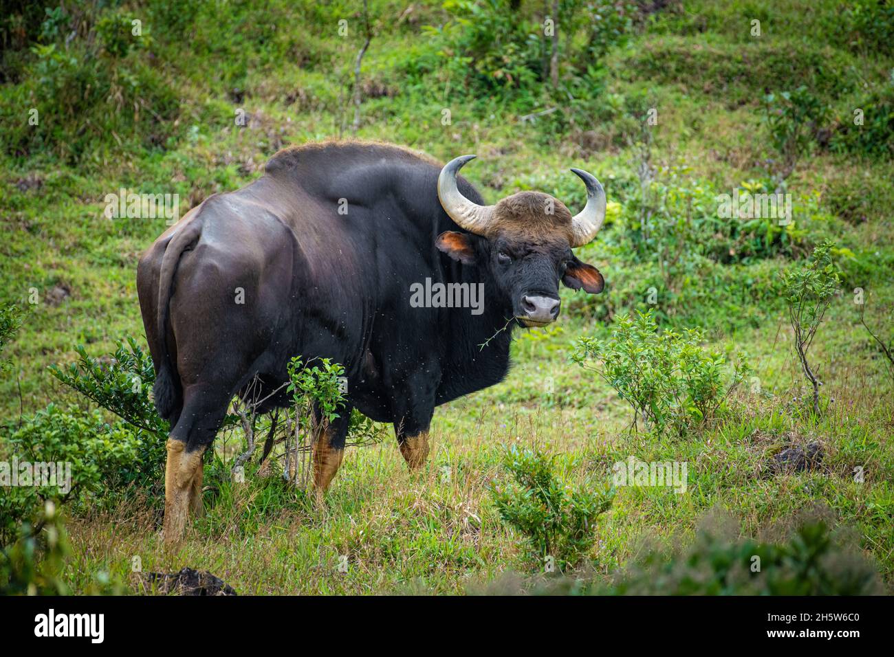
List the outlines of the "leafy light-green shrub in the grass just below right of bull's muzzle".
{"type": "Polygon", "coordinates": [[[738,358],[731,373],[719,351],[701,347],[703,333],[659,330],[654,313],[616,318],[611,337],[583,337],[572,359],[611,385],[633,408],[633,427],[642,418],[657,434],[701,428],[749,372],[738,358]]]}

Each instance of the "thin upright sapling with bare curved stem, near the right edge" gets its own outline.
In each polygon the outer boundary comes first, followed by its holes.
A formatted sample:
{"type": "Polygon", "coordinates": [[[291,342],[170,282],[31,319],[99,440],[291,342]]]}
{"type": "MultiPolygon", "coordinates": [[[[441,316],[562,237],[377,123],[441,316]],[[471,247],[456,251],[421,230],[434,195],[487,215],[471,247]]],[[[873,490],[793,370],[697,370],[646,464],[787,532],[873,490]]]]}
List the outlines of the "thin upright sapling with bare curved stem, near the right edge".
{"type": "Polygon", "coordinates": [[[822,317],[839,290],[839,268],[832,261],[833,245],[824,241],[804,264],[780,273],[780,287],[789,307],[789,323],[794,332],[795,353],[807,380],[814,388],[814,414],[820,412],[820,385],[807,360],[822,317]]]}

